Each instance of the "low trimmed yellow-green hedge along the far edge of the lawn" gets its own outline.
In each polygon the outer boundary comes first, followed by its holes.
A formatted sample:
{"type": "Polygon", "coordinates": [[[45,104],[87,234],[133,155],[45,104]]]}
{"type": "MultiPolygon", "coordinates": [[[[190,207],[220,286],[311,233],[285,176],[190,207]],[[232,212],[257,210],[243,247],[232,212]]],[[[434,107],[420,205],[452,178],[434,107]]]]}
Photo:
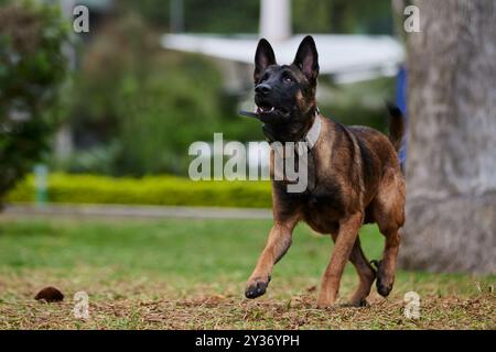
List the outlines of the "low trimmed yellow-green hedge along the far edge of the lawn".
{"type": "MultiPolygon", "coordinates": [[[[54,174],[48,177],[48,200],[78,204],[128,204],[270,208],[269,182],[192,182],[174,176],[111,178],[54,174]]],[[[7,197],[33,201],[34,177],[28,177],[7,197]]]]}

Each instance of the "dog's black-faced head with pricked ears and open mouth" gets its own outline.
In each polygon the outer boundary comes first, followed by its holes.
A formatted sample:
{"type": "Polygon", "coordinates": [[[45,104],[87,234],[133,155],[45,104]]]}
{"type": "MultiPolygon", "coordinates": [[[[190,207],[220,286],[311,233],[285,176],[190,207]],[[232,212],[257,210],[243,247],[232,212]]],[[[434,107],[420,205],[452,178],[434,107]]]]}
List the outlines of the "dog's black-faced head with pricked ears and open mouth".
{"type": "Polygon", "coordinates": [[[278,65],[269,42],[260,40],[255,54],[255,103],[272,141],[300,139],[316,109],[319,55],[312,36],[303,38],[291,65],[278,65]]]}

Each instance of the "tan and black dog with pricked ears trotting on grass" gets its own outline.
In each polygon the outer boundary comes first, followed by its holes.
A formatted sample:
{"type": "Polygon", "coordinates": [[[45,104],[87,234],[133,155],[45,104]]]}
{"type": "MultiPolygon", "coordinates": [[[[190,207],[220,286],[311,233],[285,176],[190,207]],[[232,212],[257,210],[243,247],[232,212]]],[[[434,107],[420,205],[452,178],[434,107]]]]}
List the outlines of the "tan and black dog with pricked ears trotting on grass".
{"type": "MultiPolygon", "coordinates": [[[[398,160],[403,119],[396,106],[388,105],[388,136],[371,128],[345,127],[327,119],[315,101],[317,76],[319,54],[312,36],[303,38],[291,65],[278,65],[269,42],[259,41],[255,102],[268,142],[305,141],[312,131],[314,143],[308,145],[312,156],[308,174],[312,182],[304,191],[289,193],[287,182],[271,180],[273,227],[245,296],[257,298],[266,293],[273,265],[289,250],[296,223],[304,221],[314,231],[331,234],[335,243],[322,277],[317,307],[336,305],[348,260],[359,284],[347,305],[366,306],[374,280],[377,279],[377,292],[384,297],[395,282],[399,230],[405,222],[406,186],[398,160]],[[366,258],[358,238],[362,224],[373,222],[386,239],[382,260],[376,262],[366,258]]],[[[270,166],[273,175],[273,154],[270,166]]]]}

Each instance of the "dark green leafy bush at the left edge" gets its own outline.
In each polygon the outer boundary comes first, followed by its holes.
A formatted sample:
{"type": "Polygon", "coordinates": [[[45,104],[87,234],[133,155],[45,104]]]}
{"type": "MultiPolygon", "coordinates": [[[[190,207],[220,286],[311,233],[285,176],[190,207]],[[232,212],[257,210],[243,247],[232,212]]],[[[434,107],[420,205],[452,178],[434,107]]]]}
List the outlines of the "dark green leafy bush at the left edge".
{"type": "Polygon", "coordinates": [[[0,198],[48,150],[66,77],[58,8],[0,7],[0,198]]]}

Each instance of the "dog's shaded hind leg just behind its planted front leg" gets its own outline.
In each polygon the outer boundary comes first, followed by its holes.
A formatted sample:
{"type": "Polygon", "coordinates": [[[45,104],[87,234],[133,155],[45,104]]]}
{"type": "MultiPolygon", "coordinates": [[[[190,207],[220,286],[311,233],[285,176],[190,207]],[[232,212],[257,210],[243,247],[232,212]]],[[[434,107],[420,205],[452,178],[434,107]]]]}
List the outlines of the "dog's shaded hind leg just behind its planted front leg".
{"type": "Polygon", "coordinates": [[[359,283],[358,287],[349,298],[349,306],[364,307],[367,306],[367,296],[370,294],[370,287],[376,279],[376,271],[369,264],[367,257],[362,250],[360,240],[356,238],[352,253],[349,254],[349,261],[355,266],[358,274],[359,283]]]}

